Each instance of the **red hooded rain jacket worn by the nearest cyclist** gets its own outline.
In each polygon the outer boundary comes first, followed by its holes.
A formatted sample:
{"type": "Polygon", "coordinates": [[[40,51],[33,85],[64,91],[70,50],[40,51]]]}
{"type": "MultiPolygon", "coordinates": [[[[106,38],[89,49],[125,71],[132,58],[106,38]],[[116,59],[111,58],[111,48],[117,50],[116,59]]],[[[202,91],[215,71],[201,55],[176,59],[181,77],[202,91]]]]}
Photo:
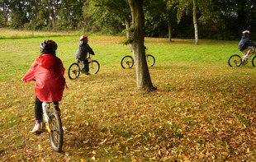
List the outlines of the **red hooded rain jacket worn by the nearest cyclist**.
{"type": "Polygon", "coordinates": [[[36,58],[22,80],[27,82],[36,78],[35,93],[40,101],[61,101],[66,85],[64,71],[59,58],[43,54],[36,58]]]}

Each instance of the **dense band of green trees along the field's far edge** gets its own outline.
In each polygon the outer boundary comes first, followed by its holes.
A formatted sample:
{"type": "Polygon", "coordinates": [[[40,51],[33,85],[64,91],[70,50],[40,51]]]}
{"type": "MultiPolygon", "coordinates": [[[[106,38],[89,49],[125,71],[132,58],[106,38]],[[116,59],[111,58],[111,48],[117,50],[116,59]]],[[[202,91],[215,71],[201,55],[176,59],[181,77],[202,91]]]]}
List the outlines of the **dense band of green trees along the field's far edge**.
{"type": "MultiPolygon", "coordinates": [[[[194,38],[192,2],[146,0],[145,36],[194,38]]],[[[242,30],[253,32],[255,5],[254,0],[197,0],[199,39],[239,39],[242,30]]],[[[131,23],[127,0],[0,0],[0,13],[1,27],[21,30],[87,30],[116,35],[131,23]]]]}

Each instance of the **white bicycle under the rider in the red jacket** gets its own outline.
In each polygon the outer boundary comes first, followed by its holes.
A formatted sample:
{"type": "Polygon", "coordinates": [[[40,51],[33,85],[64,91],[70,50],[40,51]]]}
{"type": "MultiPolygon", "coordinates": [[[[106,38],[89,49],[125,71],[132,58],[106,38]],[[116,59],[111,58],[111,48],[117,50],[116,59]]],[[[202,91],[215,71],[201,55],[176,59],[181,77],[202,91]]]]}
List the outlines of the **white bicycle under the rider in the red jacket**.
{"type": "Polygon", "coordinates": [[[43,102],[42,108],[45,119],[42,124],[42,132],[49,132],[52,148],[55,151],[60,152],[63,146],[64,132],[59,114],[54,109],[50,109],[50,103],[48,102],[43,102]]]}

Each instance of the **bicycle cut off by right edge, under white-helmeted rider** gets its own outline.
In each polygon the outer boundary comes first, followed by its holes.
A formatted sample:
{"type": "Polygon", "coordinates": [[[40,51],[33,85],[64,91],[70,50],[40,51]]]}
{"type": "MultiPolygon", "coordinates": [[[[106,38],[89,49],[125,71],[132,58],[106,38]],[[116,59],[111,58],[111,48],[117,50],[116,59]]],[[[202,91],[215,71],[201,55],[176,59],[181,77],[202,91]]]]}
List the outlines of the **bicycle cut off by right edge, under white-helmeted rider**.
{"type": "Polygon", "coordinates": [[[243,60],[243,56],[240,57],[238,54],[234,54],[232,56],[230,56],[229,58],[229,65],[230,67],[240,67],[241,65],[246,65],[249,61],[250,58],[252,58],[252,56],[254,56],[254,58],[252,59],[252,64],[254,67],[256,67],[256,54],[255,54],[255,48],[254,48],[254,52],[249,54],[249,58],[245,58],[243,60]]]}

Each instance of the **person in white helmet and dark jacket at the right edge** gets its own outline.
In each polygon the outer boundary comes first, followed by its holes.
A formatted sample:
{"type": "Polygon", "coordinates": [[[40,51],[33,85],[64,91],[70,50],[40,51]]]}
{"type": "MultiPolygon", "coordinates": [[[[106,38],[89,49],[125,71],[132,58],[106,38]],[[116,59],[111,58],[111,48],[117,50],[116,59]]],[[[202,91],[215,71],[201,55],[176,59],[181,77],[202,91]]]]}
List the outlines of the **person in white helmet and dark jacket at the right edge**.
{"type": "Polygon", "coordinates": [[[239,51],[242,51],[244,55],[243,61],[244,58],[249,58],[249,54],[254,52],[254,47],[256,47],[256,44],[254,44],[254,42],[249,39],[249,35],[249,30],[244,30],[242,39],[239,42],[239,51]]]}

